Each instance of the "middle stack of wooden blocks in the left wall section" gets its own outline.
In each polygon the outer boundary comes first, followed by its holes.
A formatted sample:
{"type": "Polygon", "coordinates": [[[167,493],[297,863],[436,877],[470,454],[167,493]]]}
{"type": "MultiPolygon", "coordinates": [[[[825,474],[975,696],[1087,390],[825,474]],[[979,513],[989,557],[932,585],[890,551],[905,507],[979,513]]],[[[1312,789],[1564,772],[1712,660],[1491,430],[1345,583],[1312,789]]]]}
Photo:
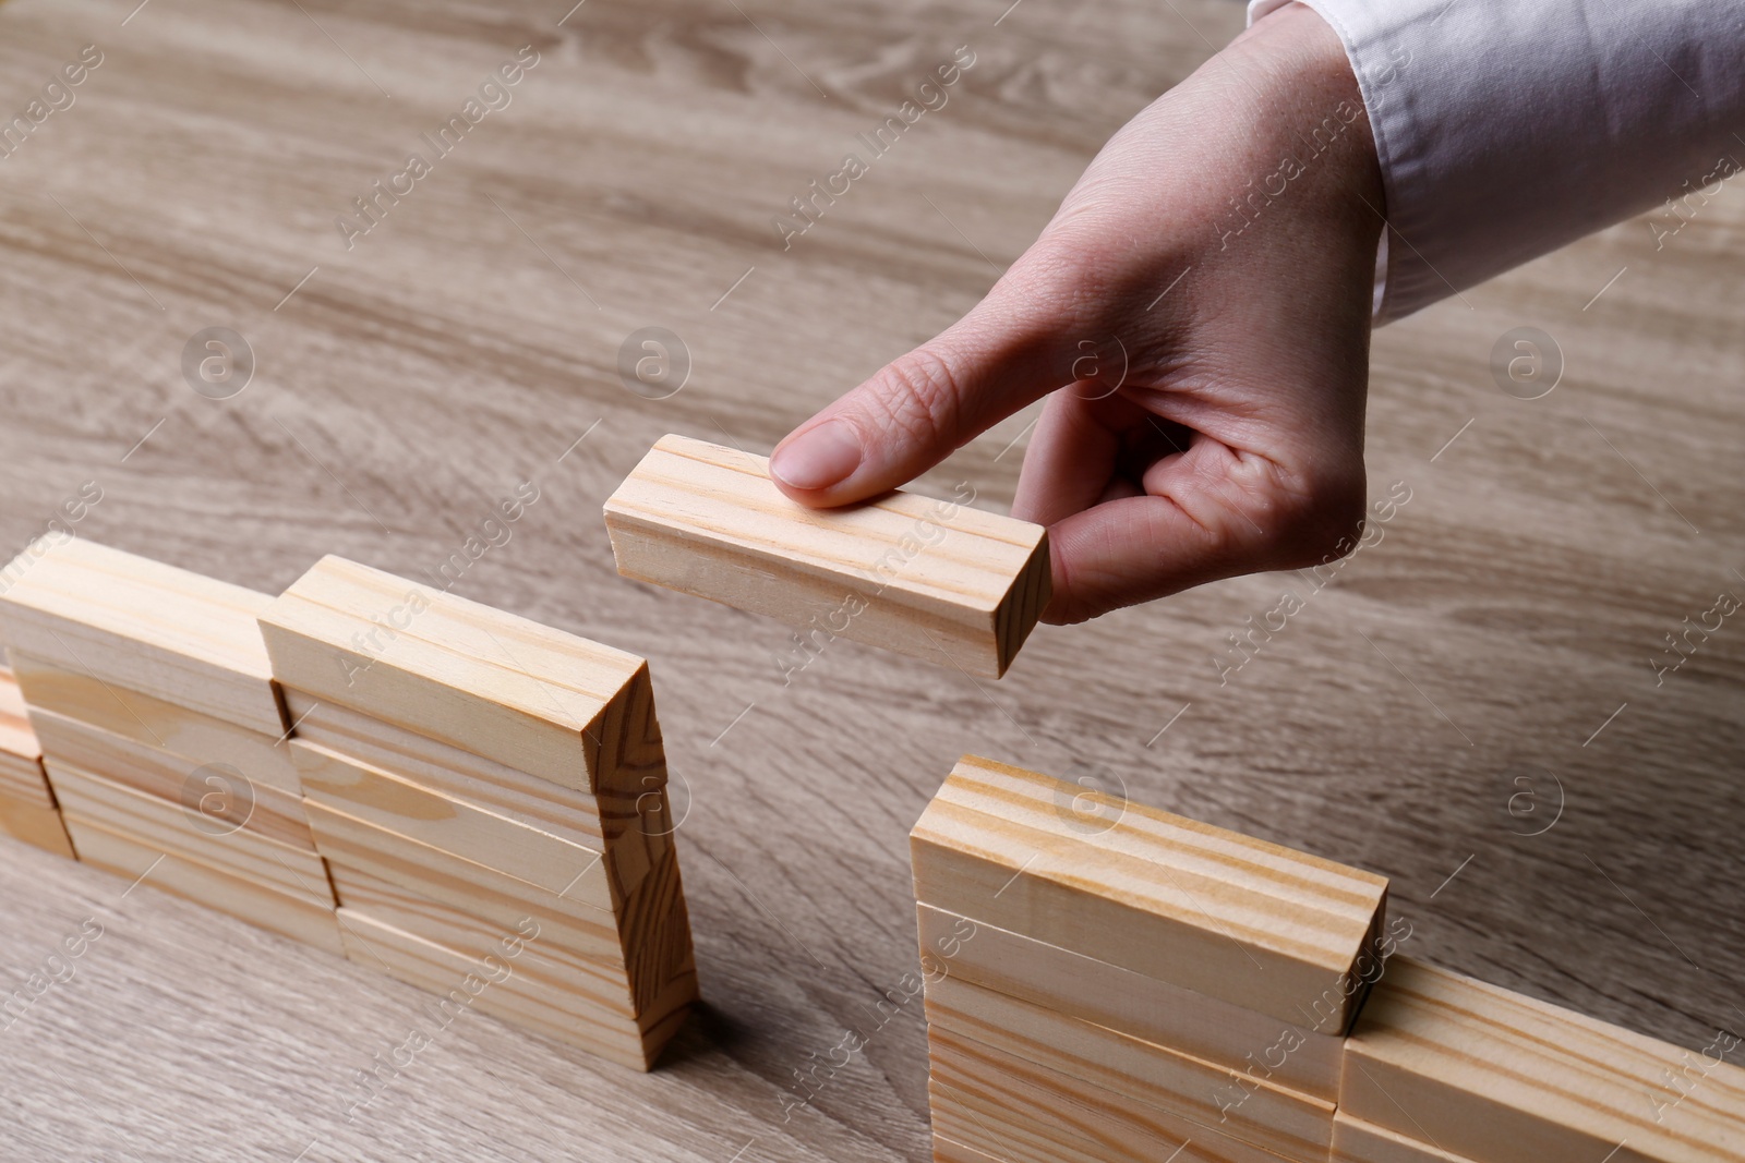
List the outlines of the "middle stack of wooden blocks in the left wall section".
{"type": "Polygon", "coordinates": [[[270,603],[68,539],[28,560],[0,629],[80,860],[339,952],[255,622],[270,603]]]}

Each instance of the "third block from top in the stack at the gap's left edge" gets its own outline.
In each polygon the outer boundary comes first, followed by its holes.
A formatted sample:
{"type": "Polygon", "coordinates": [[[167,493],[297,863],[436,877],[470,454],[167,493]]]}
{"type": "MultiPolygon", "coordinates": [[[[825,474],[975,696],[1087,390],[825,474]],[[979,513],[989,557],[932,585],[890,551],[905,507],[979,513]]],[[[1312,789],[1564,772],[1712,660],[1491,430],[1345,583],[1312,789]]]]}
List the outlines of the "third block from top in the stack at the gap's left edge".
{"type": "MultiPolygon", "coordinates": [[[[619,901],[647,872],[647,863],[640,861],[628,868],[635,879],[626,879],[626,868],[616,860],[616,851],[602,853],[599,844],[581,847],[518,820],[497,816],[380,767],[347,758],[319,743],[291,739],[291,748],[302,769],[304,793],[311,800],[520,877],[548,893],[565,893],[590,875],[590,870],[599,868],[611,893],[609,900],[619,901]]],[[[642,856],[644,849],[632,846],[630,853],[642,856]]]]}

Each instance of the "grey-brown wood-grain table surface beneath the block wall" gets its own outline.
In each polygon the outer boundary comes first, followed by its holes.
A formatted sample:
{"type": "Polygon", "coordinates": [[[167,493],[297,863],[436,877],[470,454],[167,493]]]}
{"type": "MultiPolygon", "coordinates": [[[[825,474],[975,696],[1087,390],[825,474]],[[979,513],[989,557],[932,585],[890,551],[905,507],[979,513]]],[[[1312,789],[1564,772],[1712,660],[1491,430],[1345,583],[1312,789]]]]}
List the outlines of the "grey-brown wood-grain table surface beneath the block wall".
{"type": "MultiPolygon", "coordinates": [[[[784,684],[785,628],[621,581],[600,502],[660,434],[768,452],[958,317],[1241,5],[136,2],[0,7],[7,117],[103,54],[0,159],[0,541],[94,481],[80,534],[277,591],[323,553],[435,568],[534,481],[457,591],[651,659],[707,1008],[651,1076],[468,1017],[347,1123],[417,990],[5,846],[5,989],[103,931],[0,1022],[5,1158],[925,1160],[920,1003],[876,1006],[963,752],[1387,874],[1413,956],[1691,1048],[1745,1030],[1745,614],[1666,652],[1745,596],[1745,195],[1380,333],[1370,490],[1410,500],[1324,588],[1042,628],[998,684],[850,642],[784,684]],[[771,218],[960,45],[948,105],[784,249],[771,218]],[[181,364],[211,326],[257,364],[223,401],[181,364]],[[649,326],[689,364],[665,399],[619,375],[649,326]],[[1520,326],[1562,352],[1539,399],[1492,373],[1520,326]]],[[[921,486],[1003,507],[1028,420],[921,486]]]]}

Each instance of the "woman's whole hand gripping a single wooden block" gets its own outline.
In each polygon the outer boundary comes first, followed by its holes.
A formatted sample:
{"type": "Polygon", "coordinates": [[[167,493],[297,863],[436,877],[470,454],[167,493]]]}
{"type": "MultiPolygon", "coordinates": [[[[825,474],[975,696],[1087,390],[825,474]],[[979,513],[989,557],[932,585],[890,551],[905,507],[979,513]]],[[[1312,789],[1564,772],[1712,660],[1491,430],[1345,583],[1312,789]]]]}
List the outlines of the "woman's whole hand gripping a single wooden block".
{"type": "Polygon", "coordinates": [[[1124,126],[970,314],[789,434],[777,485],[881,493],[1052,392],[1012,506],[1049,527],[1047,621],[1338,554],[1382,213],[1345,52],[1281,9],[1124,126]]]}

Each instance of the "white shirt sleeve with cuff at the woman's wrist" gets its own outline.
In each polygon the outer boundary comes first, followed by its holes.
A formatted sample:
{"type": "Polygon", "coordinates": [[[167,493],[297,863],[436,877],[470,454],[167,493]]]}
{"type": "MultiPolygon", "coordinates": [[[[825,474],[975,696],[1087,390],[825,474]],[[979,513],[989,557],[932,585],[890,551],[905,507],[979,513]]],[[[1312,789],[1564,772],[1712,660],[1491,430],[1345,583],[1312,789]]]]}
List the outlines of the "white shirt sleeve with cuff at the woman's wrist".
{"type": "Polygon", "coordinates": [[[1663,242],[1745,169],[1742,0],[1302,2],[1375,133],[1377,321],[1675,199],[1646,227],[1663,242]]]}

